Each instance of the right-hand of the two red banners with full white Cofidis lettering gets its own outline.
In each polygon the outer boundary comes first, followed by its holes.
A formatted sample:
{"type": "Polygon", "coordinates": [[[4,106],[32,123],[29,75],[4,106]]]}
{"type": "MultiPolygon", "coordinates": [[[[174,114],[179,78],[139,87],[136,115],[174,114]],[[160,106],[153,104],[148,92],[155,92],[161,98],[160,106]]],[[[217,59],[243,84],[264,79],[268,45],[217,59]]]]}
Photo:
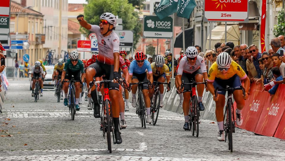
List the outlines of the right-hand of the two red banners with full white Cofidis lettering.
{"type": "Polygon", "coordinates": [[[279,85],[275,95],[271,97],[259,96],[265,102],[262,113],[256,125],[255,133],[272,137],[279,125],[285,109],[285,86],[279,85]]]}

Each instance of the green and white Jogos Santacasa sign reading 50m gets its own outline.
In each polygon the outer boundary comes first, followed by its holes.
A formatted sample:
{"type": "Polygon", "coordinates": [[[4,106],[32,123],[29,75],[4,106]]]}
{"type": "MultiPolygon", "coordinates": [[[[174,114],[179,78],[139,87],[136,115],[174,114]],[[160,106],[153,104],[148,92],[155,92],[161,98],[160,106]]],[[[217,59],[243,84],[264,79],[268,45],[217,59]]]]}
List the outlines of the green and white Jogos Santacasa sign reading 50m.
{"type": "Polygon", "coordinates": [[[144,36],[146,38],[171,38],[172,24],[172,17],[165,17],[160,20],[158,16],[144,15],[144,36]]]}

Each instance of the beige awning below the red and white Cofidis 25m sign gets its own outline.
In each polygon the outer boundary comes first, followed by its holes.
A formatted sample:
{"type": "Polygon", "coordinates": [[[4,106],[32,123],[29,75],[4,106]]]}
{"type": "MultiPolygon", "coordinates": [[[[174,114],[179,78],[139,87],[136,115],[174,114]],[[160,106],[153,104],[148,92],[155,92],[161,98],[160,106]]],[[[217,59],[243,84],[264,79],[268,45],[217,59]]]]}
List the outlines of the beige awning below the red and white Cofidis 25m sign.
{"type": "MultiPolygon", "coordinates": [[[[211,32],[211,49],[215,49],[215,44],[225,43],[225,25],[216,26],[211,32]]],[[[209,49],[210,34],[207,37],[206,49],[209,49]]],[[[238,45],[240,42],[239,25],[227,25],[227,42],[238,45]]]]}

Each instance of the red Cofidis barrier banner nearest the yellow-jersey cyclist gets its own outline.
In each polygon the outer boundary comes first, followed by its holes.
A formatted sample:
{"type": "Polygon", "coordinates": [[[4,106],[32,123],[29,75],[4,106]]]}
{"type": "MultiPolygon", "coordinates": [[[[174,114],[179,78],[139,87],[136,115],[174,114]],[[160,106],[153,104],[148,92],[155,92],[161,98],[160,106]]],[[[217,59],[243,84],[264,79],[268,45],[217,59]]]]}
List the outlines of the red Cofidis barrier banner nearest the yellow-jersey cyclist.
{"type": "MultiPolygon", "coordinates": [[[[239,128],[254,132],[260,114],[262,112],[264,103],[269,101],[269,93],[262,91],[263,86],[261,84],[251,85],[251,90],[247,100],[245,100],[245,106],[242,111],[243,125],[239,128]]],[[[236,108],[236,105],[234,104],[236,108]]],[[[238,126],[237,126],[238,127],[238,126]]]]}

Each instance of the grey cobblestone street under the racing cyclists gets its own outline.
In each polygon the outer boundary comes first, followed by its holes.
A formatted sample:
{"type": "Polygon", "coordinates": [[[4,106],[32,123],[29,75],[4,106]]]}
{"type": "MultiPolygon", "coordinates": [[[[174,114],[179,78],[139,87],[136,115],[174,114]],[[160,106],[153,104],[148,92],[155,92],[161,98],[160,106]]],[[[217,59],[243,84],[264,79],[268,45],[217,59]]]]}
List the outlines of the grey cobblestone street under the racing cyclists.
{"type": "Polygon", "coordinates": [[[236,129],[233,153],[217,140],[216,122],[201,120],[199,137],[182,129],[183,115],[160,110],[155,126],[140,126],[135,108],[125,112],[127,129],[123,143],[112,144],[100,131],[99,119],[87,109],[87,101],[71,120],[63,100],[44,90],[37,103],[29,82],[10,81],[0,114],[0,160],[284,160],[285,141],[236,129]]]}

